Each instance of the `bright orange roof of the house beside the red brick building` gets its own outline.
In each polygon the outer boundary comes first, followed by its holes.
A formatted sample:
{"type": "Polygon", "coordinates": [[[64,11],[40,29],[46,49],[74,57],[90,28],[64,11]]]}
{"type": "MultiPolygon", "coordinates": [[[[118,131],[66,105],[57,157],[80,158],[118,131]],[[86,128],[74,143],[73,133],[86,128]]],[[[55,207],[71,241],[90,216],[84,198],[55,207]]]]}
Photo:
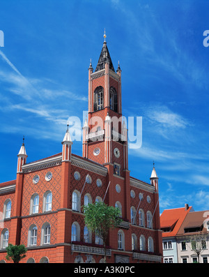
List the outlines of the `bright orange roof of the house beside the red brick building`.
{"type": "Polygon", "coordinates": [[[169,232],[163,232],[162,237],[176,236],[189,211],[193,211],[192,206],[164,210],[160,216],[160,227],[161,229],[169,230],[169,232]]]}

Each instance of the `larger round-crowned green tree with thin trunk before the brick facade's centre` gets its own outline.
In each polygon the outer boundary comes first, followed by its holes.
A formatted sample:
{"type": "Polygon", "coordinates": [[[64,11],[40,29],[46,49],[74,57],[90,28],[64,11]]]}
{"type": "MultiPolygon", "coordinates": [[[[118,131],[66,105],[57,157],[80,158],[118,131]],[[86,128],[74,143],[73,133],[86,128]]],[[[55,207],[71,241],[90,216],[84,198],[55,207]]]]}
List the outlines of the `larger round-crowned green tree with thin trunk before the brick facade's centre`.
{"type": "Polygon", "coordinates": [[[107,236],[109,230],[118,227],[122,221],[120,209],[108,206],[104,202],[88,204],[84,206],[84,221],[88,230],[95,232],[103,240],[106,262],[107,236]]]}

